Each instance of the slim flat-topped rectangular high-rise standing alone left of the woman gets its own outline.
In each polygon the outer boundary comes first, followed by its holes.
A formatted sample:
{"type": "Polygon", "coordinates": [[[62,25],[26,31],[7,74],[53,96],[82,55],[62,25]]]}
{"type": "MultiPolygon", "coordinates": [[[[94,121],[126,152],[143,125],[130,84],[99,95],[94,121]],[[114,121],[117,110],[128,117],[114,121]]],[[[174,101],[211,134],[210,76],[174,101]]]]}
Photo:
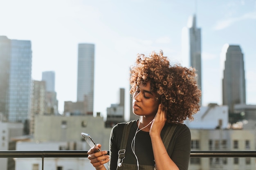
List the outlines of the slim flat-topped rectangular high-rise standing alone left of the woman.
{"type": "Polygon", "coordinates": [[[94,44],[78,44],[77,102],[88,102],[88,114],[93,114],[94,44]]]}

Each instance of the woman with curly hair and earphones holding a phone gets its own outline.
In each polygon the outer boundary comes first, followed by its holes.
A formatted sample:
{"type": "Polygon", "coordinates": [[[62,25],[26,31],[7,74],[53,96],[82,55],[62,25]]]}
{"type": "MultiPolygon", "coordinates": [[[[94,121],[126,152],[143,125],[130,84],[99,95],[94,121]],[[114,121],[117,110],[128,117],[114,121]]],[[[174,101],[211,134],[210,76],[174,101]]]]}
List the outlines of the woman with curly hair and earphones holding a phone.
{"type": "Polygon", "coordinates": [[[139,120],[112,128],[110,157],[101,147],[88,151],[97,170],[187,170],[191,133],[182,124],[200,110],[195,68],[170,65],[163,51],[138,54],[130,70],[133,113],[139,120]],[[111,158],[111,159],[110,159],[111,158]]]}

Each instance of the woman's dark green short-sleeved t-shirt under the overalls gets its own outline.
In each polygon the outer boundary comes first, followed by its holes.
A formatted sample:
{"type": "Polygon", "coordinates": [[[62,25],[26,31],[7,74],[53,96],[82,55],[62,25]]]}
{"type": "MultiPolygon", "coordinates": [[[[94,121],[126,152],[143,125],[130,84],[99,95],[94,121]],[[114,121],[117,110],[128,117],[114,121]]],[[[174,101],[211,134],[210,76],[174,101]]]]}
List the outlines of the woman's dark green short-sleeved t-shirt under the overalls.
{"type": "MultiPolygon", "coordinates": [[[[117,124],[112,128],[110,135],[110,170],[117,169],[118,151],[121,146],[121,139],[126,123],[117,124]]],[[[163,138],[166,128],[171,124],[166,124],[161,132],[163,138]]],[[[130,128],[129,137],[126,145],[125,158],[123,163],[137,164],[134,153],[132,152],[132,139],[137,130],[136,121],[130,128]]],[[[167,152],[180,170],[188,170],[189,158],[191,151],[191,133],[189,128],[184,124],[178,124],[168,146],[167,152]]],[[[135,139],[135,154],[140,165],[154,166],[154,155],[149,132],[140,130],[137,132],[135,139]]]]}

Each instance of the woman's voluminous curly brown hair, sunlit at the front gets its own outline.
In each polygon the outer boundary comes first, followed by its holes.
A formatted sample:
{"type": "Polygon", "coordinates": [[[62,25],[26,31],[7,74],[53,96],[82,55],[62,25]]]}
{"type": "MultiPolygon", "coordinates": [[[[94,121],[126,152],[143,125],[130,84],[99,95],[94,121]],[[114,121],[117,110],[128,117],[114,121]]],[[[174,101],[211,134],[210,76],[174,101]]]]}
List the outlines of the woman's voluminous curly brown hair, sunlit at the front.
{"type": "Polygon", "coordinates": [[[167,110],[166,123],[183,123],[193,120],[200,110],[201,91],[197,84],[195,68],[186,68],[180,64],[170,65],[163,51],[153,51],[149,57],[138,54],[134,66],[130,69],[130,94],[135,93],[139,84],[150,81],[150,91],[167,110]]]}

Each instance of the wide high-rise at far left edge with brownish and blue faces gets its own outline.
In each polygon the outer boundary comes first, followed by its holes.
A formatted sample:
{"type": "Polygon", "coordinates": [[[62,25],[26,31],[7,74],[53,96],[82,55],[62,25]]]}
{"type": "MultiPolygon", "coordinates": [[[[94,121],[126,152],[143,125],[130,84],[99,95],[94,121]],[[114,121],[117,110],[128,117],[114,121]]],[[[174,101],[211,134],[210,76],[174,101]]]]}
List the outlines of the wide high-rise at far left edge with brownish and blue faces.
{"type": "Polygon", "coordinates": [[[0,36],[0,112],[10,122],[29,119],[31,62],[31,41],[0,36]]]}

